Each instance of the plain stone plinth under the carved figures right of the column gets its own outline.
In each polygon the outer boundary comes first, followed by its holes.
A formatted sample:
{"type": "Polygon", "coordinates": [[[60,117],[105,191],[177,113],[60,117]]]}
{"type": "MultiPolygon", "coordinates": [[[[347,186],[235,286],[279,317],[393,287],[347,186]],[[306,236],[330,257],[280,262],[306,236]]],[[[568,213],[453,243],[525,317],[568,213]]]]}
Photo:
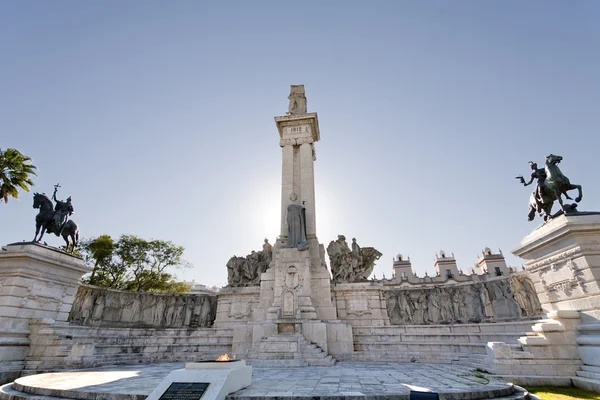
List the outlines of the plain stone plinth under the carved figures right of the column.
{"type": "Polygon", "coordinates": [[[387,326],[390,319],[379,282],[338,283],[333,288],[338,318],[352,326],[387,326]]]}

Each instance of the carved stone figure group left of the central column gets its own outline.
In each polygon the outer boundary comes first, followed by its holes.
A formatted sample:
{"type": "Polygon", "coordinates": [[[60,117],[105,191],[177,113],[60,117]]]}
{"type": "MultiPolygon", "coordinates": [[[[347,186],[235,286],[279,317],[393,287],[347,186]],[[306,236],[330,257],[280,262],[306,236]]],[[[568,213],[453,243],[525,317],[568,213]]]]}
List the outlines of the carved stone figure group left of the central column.
{"type": "Polygon", "coordinates": [[[262,251],[254,251],[246,257],[233,256],[227,262],[227,285],[258,286],[260,275],[267,271],[273,258],[273,247],[267,239],[262,251]]]}

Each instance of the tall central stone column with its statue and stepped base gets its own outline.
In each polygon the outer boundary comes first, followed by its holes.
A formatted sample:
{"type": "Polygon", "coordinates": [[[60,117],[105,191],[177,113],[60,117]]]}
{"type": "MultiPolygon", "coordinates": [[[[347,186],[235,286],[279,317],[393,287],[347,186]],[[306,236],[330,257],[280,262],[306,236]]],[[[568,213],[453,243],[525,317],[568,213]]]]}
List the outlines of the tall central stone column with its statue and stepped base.
{"type": "Polygon", "coordinates": [[[318,116],[307,112],[303,85],[292,86],[288,99],[286,115],[275,117],[282,151],[280,234],[272,247],[255,257],[270,256],[269,268],[260,274],[260,289],[224,290],[215,325],[235,325],[233,351],[254,365],[328,365],[335,363],[331,355],[350,357],[352,328],[337,320],[325,248],[317,238],[318,116]],[[239,319],[250,315],[240,326],[239,319]],[[322,352],[303,351],[311,343],[322,352]]]}

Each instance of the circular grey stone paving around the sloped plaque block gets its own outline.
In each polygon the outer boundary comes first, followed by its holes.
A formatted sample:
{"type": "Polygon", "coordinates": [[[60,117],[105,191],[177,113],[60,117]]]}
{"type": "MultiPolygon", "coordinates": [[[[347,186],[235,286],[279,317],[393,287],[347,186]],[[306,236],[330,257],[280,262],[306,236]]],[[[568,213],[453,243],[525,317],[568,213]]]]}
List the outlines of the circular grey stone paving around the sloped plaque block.
{"type": "MultiPolygon", "coordinates": [[[[143,400],[169,372],[183,367],[157,363],[47,373],[19,378],[12,388],[3,389],[13,395],[143,400]]],[[[514,391],[510,383],[467,366],[341,362],[332,367],[253,368],[252,385],[229,398],[408,399],[411,390],[434,391],[442,399],[494,398],[514,391]]]]}

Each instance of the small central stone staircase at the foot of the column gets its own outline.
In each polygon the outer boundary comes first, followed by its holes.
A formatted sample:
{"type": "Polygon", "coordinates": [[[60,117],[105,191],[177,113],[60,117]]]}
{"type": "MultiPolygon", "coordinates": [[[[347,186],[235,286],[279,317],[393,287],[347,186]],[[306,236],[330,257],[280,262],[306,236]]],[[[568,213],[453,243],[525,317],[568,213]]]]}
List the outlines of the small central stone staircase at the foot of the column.
{"type": "Polygon", "coordinates": [[[331,366],[336,360],[299,333],[277,334],[262,339],[248,353],[249,364],[257,368],[331,366]]]}

